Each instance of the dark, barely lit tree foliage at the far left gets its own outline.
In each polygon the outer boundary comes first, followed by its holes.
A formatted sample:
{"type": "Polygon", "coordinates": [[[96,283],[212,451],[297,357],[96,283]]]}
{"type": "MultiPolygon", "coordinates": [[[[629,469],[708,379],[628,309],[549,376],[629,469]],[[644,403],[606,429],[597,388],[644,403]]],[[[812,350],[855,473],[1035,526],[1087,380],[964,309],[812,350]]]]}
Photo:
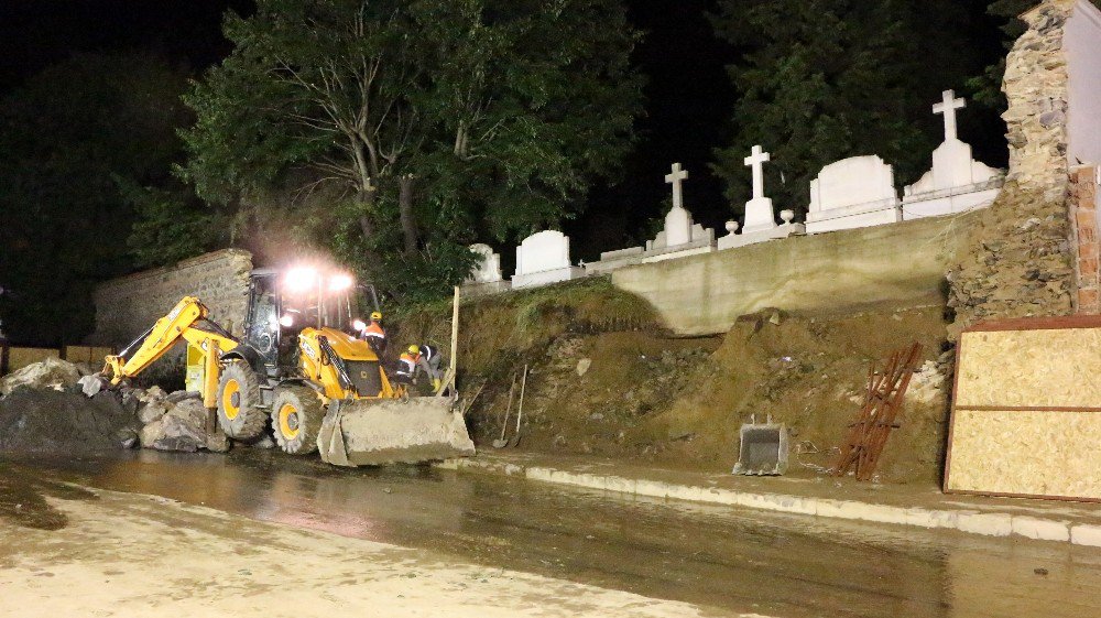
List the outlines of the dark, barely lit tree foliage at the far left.
{"type": "Polygon", "coordinates": [[[186,74],[143,55],[77,55],[0,99],[0,318],[18,341],[76,341],[92,285],[131,270],[119,182],[171,181],[186,74]]]}

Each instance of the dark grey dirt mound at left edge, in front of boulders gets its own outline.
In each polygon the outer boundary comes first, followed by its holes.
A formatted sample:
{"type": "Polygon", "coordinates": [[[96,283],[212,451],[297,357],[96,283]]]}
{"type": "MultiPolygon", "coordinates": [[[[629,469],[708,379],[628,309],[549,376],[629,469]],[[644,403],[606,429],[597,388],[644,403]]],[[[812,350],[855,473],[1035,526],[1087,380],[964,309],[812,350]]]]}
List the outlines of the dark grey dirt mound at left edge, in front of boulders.
{"type": "Polygon", "coordinates": [[[9,453],[92,453],[132,443],[141,429],[137,400],[123,404],[117,392],[88,399],[65,390],[18,387],[0,399],[0,451],[9,453]]]}

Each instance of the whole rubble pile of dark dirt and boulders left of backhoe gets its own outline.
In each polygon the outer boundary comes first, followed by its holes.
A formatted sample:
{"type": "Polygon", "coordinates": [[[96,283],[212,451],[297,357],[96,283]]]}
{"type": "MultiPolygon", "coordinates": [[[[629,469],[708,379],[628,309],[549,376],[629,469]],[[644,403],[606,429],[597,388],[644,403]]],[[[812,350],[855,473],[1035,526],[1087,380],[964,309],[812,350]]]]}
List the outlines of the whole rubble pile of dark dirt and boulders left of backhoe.
{"type": "Polygon", "coordinates": [[[0,451],[229,449],[216,426],[208,434],[208,412],[198,393],[122,387],[88,397],[80,378],[75,365],[47,359],[0,380],[0,451]]]}

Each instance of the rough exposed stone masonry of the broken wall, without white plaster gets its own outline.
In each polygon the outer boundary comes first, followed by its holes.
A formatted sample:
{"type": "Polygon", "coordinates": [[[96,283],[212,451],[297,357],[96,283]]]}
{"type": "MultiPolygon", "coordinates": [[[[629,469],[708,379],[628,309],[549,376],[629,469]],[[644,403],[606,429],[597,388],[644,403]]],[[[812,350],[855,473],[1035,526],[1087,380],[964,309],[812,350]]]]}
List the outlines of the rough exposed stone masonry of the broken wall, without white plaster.
{"type": "Polygon", "coordinates": [[[1006,58],[1010,172],[948,273],[952,338],[985,319],[1068,315],[1076,295],[1067,161],[1065,26],[1073,0],[1045,0],[1006,58]]]}

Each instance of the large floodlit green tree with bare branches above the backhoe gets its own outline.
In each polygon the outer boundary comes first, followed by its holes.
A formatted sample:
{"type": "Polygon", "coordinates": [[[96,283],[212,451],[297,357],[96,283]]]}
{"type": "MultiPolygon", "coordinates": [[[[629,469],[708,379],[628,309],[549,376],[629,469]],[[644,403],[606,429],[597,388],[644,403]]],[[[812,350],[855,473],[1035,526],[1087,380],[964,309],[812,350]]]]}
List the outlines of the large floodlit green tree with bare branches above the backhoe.
{"type": "Polygon", "coordinates": [[[618,0],[261,0],[225,32],[183,176],[399,293],[461,280],[477,236],[575,214],[640,113],[618,0]]]}

